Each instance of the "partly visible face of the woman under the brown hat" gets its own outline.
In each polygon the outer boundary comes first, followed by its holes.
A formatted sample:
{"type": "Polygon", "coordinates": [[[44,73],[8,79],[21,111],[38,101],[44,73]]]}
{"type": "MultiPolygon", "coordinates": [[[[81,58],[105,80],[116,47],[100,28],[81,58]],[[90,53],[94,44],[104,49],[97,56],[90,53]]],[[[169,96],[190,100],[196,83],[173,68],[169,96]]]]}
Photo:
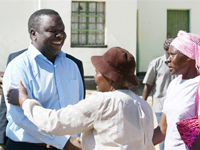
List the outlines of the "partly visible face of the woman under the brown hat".
{"type": "Polygon", "coordinates": [[[99,92],[108,92],[110,91],[111,85],[98,70],[96,70],[96,74],[94,76],[95,82],[97,84],[96,89],[99,92]]]}

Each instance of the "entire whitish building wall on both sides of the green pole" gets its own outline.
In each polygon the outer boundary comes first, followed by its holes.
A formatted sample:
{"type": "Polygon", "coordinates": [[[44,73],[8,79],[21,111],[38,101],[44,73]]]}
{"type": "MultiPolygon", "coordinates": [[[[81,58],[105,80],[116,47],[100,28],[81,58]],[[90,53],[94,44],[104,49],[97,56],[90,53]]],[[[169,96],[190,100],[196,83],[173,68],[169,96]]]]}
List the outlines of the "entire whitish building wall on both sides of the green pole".
{"type": "MultiPolygon", "coordinates": [[[[92,55],[102,55],[110,47],[121,46],[136,57],[136,25],[138,28],[137,72],[145,72],[149,62],[163,55],[167,32],[167,9],[190,9],[190,31],[200,34],[200,0],[104,0],[106,2],[107,48],[71,48],[71,0],[0,0],[0,71],[5,70],[11,52],[27,48],[30,43],[27,22],[41,8],[55,9],[66,26],[63,50],[81,59],[85,76],[93,76],[92,55]],[[138,9],[138,23],[136,10],[138,9]]],[[[95,1],[95,0],[91,0],[95,1]]]]}

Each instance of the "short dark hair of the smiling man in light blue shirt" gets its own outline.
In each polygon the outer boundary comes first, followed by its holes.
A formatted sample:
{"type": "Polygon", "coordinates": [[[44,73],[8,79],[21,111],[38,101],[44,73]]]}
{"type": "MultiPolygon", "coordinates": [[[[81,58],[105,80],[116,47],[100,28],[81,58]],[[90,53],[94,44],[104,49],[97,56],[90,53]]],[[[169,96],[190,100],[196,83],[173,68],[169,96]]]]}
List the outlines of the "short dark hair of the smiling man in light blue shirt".
{"type": "Polygon", "coordinates": [[[28,32],[30,33],[30,29],[33,28],[36,31],[38,30],[38,27],[41,25],[41,18],[40,16],[42,15],[50,15],[50,14],[55,14],[59,15],[58,12],[52,9],[40,9],[34,12],[29,20],[28,20],[28,32]]]}

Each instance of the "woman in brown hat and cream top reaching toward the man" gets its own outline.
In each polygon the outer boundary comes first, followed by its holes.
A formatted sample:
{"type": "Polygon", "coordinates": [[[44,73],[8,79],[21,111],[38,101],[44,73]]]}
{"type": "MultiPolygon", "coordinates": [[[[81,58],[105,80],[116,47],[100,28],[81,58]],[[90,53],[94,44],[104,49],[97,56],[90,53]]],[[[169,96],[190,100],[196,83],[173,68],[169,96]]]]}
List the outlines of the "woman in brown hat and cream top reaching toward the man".
{"type": "MultiPolygon", "coordinates": [[[[137,86],[135,59],[125,49],[113,47],[103,56],[91,58],[97,93],[60,110],[45,109],[27,99],[19,88],[24,114],[43,132],[65,135],[82,132],[83,150],[154,150],[153,113],[146,101],[128,90],[137,86]]],[[[18,103],[10,90],[8,102],[18,103]]]]}

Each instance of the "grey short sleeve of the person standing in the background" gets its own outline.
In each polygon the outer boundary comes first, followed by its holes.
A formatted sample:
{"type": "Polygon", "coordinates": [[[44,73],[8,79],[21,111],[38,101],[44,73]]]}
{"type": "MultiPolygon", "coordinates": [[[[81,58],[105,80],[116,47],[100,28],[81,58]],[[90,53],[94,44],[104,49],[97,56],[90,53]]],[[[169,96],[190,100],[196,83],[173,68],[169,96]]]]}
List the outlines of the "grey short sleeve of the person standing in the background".
{"type": "Polygon", "coordinates": [[[153,60],[149,63],[148,70],[147,70],[146,75],[144,77],[143,83],[153,86],[154,82],[156,80],[156,75],[157,75],[156,61],[153,60]]]}

